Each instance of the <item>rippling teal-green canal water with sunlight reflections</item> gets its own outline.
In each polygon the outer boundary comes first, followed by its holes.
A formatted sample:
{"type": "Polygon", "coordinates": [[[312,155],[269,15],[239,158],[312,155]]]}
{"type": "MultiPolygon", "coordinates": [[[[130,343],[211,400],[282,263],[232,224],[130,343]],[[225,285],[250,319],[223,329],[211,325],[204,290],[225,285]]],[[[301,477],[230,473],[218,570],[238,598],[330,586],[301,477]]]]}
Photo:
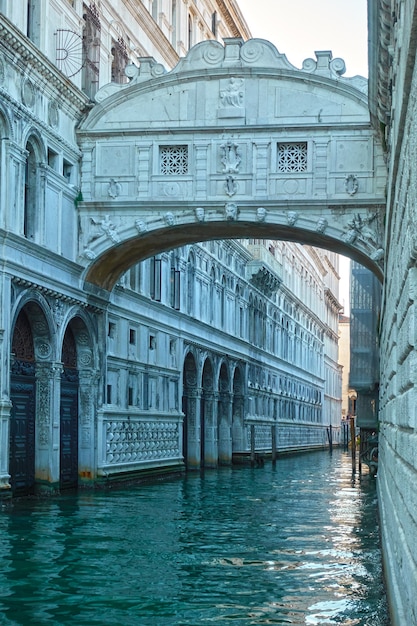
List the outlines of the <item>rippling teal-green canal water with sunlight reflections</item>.
{"type": "Polygon", "coordinates": [[[15,502],[2,626],[387,626],[375,479],[347,453],[15,502]]]}

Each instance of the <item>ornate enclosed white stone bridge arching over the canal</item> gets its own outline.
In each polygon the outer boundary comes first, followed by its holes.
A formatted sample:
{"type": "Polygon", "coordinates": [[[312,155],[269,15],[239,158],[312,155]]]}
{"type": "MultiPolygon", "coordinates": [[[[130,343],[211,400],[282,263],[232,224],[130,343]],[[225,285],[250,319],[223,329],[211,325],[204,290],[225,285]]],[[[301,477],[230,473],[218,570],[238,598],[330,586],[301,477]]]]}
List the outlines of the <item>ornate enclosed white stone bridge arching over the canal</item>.
{"type": "Polygon", "coordinates": [[[110,290],[135,262],[186,243],[284,239],[383,276],[386,167],[367,81],[316,52],[206,41],[170,72],[151,58],[109,84],[78,129],[80,260],[110,290]]]}

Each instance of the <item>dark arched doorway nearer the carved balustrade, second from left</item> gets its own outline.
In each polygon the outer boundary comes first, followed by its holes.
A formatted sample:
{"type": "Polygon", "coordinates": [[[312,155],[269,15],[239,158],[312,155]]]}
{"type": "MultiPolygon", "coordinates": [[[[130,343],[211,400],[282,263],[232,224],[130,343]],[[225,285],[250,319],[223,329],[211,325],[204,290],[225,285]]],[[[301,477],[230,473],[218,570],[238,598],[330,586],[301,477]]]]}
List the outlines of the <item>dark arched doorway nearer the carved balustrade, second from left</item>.
{"type": "Polygon", "coordinates": [[[65,331],[62,344],[60,409],[60,489],[78,486],[78,387],[77,346],[71,328],[65,331]]]}

